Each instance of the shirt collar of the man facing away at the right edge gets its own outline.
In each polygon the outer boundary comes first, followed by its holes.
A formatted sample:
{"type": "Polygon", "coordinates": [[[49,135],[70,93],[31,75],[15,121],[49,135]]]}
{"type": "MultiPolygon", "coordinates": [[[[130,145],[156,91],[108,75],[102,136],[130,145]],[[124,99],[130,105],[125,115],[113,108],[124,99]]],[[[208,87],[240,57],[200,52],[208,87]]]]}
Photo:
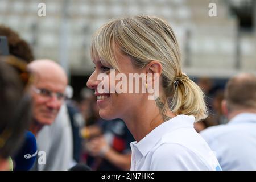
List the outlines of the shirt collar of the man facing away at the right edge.
{"type": "Polygon", "coordinates": [[[256,123],[256,114],[255,113],[241,113],[237,114],[232,118],[228,124],[236,123],[256,123]]]}

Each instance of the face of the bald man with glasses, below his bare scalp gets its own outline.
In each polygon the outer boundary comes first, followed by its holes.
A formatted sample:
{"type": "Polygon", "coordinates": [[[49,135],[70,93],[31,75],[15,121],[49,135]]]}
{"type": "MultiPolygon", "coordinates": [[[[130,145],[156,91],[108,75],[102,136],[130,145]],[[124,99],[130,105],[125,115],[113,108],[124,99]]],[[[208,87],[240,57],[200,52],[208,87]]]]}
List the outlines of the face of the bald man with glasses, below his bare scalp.
{"type": "Polygon", "coordinates": [[[55,120],[64,98],[67,83],[58,76],[40,76],[31,87],[33,117],[41,125],[51,125],[55,120]]]}

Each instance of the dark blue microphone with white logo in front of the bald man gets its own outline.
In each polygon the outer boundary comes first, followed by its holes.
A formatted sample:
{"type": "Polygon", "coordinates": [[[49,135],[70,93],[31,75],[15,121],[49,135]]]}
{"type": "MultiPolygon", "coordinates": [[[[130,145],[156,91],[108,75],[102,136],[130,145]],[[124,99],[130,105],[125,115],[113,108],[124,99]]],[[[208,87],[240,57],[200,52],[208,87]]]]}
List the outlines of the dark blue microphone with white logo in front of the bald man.
{"type": "Polygon", "coordinates": [[[27,131],[24,143],[14,158],[14,171],[29,171],[35,163],[37,154],[35,135],[27,131]]]}

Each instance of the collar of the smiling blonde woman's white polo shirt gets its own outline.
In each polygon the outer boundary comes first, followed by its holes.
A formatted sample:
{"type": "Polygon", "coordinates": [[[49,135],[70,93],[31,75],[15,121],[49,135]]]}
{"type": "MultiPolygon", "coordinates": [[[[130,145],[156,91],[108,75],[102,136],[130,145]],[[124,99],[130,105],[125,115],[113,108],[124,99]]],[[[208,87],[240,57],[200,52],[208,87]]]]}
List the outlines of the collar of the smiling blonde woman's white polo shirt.
{"type": "Polygon", "coordinates": [[[170,131],[179,129],[181,127],[194,127],[194,122],[195,117],[192,115],[177,115],[176,117],[157,126],[141,141],[132,142],[131,146],[138,148],[141,154],[146,156],[147,153],[156,145],[156,143],[159,142],[164,134],[170,133],[170,131]]]}

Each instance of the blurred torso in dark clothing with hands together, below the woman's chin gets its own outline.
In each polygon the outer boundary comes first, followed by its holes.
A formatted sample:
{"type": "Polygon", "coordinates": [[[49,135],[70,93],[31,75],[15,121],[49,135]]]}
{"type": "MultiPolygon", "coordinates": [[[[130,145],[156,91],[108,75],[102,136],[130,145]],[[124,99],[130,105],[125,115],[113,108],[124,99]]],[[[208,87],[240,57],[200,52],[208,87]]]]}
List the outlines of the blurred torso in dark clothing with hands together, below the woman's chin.
{"type": "Polygon", "coordinates": [[[88,166],[100,171],[130,169],[130,143],[134,138],[121,119],[99,119],[96,124],[84,128],[82,133],[89,153],[88,166]]]}

